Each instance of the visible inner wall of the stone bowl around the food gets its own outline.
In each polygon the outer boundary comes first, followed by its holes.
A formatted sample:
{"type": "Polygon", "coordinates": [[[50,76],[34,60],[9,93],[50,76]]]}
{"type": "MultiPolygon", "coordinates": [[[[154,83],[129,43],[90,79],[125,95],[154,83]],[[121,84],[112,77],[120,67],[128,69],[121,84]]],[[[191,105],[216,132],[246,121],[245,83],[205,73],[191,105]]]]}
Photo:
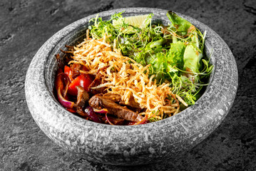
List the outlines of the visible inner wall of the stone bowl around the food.
{"type": "MultiPolygon", "coordinates": [[[[125,17],[126,16],[138,16],[138,15],[144,15],[144,14],[150,14],[150,12],[143,12],[143,13],[124,12],[123,16],[125,16],[125,17]]],[[[103,16],[102,19],[103,20],[111,19],[111,15],[103,16]]],[[[190,20],[190,18],[188,18],[188,21],[189,20],[190,20]]],[[[154,14],[152,22],[153,23],[161,22],[165,26],[170,25],[170,21],[169,21],[168,17],[159,15],[159,14],[158,15],[154,14]]],[[[193,24],[193,22],[191,22],[191,23],[193,24]]],[[[76,44],[83,41],[83,39],[86,37],[86,30],[87,30],[88,26],[90,26],[92,24],[94,24],[92,21],[85,22],[82,26],[74,28],[73,31],[68,33],[68,35],[66,35],[66,37],[62,38],[61,41],[59,41],[56,44],[55,48],[53,48],[53,51],[51,51],[51,53],[47,59],[46,68],[45,68],[46,87],[48,88],[52,98],[54,100],[56,100],[57,103],[58,103],[58,100],[56,99],[55,95],[53,95],[54,80],[55,80],[55,76],[56,76],[56,71],[58,70],[58,63],[57,63],[55,56],[58,53],[61,56],[61,60],[63,61],[63,52],[61,52],[60,49],[65,51],[66,50],[65,45],[76,46],[76,44]]],[[[200,29],[200,26],[197,26],[196,24],[194,24],[194,25],[195,25],[195,27],[199,28],[199,30],[203,33],[203,30],[200,29]]],[[[208,42],[207,38],[205,38],[204,53],[205,53],[206,58],[210,59],[210,64],[214,66],[215,58],[212,58],[213,48],[212,48],[211,44],[208,42]]],[[[213,69],[213,72],[210,74],[210,78],[208,80],[208,86],[210,85],[211,81],[213,80],[214,73],[215,73],[215,68],[213,69]]],[[[204,89],[207,90],[208,86],[206,86],[204,89]]],[[[203,97],[203,95],[201,95],[200,98],[202,98],[202,97],[203,97]]],[[[200,98],[198,100],[200,100],[200,98]]],[[[185,111],[185,110],[183,110],[183,111],[185,111]]],[[[183,111],[181,113],[183,113],[183,111]]],[[[178,113],[178,115],[179,114],[180,113],[178,113]]]]}

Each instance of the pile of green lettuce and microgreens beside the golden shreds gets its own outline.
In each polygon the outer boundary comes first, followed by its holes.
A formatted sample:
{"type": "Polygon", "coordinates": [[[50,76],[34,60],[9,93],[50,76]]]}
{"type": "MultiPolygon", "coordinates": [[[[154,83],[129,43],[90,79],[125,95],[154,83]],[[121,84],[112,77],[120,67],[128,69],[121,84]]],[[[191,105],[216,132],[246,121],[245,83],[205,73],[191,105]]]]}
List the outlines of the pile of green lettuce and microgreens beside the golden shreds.
{"type": "MultiPolygon", "coordinates": [[[[131,25],[132,19],[123,18],[122,13],[114,14],[108,21],[96,17],[90,27],[91,36],[112,35],[108,41],[113,43],[116,39],[123,56],[129,56],[143,66],[150,64],[150,76],[155,75],[157,83],[170,83],[173,93],[193,105],[202,94],[203,86],[207,85],[204,81],[208,81],[213,71],[203,53],[205,33],[174,12],[169,11],[166,15],[171,21],[170,26],[159,22],[153,24],[153,14],[138,17],[146,18],[143,26],[131,25]]],[[[185,106],[181,105],[180,109],[185,106]]]]}

